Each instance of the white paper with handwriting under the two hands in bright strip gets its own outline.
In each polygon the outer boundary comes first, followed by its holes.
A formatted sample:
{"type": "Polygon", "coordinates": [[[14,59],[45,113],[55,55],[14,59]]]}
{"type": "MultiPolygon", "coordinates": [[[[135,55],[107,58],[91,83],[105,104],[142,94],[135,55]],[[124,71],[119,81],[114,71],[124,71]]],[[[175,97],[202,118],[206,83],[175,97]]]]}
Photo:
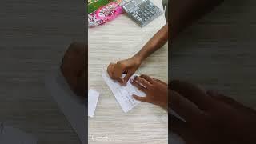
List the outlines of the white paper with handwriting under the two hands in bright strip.
{"type": "MultiPolygon", "coordinates": [[[[135,74],[130,78],[134,78],[135,74]]],[[[110,90],[114,94],[114,97],[118,101],[122,110],[127,113],[132,110],[134,106],[137,106],[139,101],[135,100],[132,95],[136,94],[141,97],[145,97],[146,94],[141,90],[138,90],[135,86],[133,86],[130,81],[127,82],[126,86],[120,86],[120,84],[113,79],[110,78],[109,74],[107,74],[106,70],[102,73],[102,77],[105,80],[106,84],[110,87],[110,90]]]]}

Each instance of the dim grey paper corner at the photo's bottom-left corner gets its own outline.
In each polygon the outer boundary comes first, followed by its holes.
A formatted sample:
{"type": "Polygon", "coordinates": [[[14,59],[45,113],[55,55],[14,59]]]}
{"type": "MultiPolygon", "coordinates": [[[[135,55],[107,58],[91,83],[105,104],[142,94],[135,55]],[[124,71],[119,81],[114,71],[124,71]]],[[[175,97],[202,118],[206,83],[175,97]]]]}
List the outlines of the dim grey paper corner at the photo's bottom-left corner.
{"type": "Polygon", "coordinates": [[[32,134],[26,134],[22,130],[14,129],[0,122],[0,143],[1,144],[36,144],[38,139],[32,134]]]}

